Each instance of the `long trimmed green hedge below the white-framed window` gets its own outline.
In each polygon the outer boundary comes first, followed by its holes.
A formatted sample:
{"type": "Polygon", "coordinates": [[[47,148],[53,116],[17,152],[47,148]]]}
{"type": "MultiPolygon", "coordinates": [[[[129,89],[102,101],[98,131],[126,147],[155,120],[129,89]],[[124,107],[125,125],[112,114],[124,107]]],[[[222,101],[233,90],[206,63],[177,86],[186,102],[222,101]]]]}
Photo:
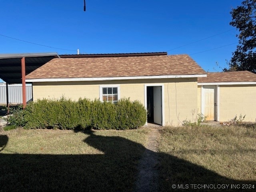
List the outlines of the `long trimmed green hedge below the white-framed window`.
{"type": "Polygon", "coordinates": [[[121,99],[117,104],[80,98],[42,99],[31,102],[24,111],[25,128],[118,129],[143,126],[146,110],[139,101],[121,99]]]}

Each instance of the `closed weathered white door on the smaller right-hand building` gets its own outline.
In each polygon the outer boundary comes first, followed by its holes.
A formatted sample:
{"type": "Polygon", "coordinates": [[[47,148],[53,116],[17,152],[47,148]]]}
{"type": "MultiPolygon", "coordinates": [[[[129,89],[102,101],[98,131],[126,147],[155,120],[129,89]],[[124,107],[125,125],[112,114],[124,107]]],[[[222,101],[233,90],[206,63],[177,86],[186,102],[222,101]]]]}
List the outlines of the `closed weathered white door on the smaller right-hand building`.
{"type": "Polygon", "coordinates": [[[206,121],[216,121],[216,86],[204,86],[204,116],[206,121]]]}

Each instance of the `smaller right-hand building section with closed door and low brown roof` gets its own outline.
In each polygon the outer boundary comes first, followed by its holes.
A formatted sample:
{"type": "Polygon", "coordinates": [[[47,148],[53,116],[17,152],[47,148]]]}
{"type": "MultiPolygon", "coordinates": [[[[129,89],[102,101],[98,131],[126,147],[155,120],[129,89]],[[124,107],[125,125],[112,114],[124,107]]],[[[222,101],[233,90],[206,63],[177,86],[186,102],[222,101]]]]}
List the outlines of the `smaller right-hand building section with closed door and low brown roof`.
{"type": "Polygon", "coordinates": [[[198,108],[210,121],[246,115],[256,120],[256,74],[248,71],[207,73],[198,78],[198,108]]]}

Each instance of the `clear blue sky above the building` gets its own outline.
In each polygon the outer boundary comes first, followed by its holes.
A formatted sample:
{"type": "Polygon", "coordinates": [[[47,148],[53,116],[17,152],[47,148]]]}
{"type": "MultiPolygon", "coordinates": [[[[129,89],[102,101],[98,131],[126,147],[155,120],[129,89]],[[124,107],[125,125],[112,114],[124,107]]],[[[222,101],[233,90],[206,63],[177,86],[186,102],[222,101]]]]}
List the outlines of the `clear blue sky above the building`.
{"type": "Polygon", "coordinates": [[[86,0],[84,12],[83,0],[0,0],[0,53],[167,51],[189,54],[206,71],[221,71],[236,49],[230,11],[241,2],[86,0]]]}

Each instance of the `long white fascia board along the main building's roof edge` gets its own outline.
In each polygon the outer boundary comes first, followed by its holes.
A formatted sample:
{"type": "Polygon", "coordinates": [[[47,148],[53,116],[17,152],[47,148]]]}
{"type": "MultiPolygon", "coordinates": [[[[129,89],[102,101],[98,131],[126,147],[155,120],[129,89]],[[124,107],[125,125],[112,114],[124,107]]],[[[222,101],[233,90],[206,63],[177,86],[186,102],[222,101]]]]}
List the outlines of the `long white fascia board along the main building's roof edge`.
{"type": "Polygon", "coordinates": [[[197,75],[129,76],[129,77],[44,78],[44,79],[26,79],[26,82],[107,81],[107,80],[195,78],[195,77],[206,77],[206,74],[197,74],[197,75]]]}

